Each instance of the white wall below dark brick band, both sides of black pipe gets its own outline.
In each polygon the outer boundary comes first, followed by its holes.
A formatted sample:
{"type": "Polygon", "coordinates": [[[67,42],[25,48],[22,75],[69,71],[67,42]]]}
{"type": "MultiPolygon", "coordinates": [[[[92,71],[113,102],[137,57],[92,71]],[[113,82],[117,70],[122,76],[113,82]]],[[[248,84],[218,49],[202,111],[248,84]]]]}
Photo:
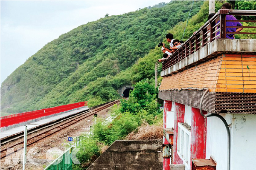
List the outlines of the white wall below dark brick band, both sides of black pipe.
{"type": "MultiPolygon", "coordinates": [[[[230,170],[256,169],[256,115],[221,114],[231,125],[230,170]]],[[[227,131],[217,117],[207,118],[206,159],[217,162],[217,170],[227,170],[227,131]]]]}

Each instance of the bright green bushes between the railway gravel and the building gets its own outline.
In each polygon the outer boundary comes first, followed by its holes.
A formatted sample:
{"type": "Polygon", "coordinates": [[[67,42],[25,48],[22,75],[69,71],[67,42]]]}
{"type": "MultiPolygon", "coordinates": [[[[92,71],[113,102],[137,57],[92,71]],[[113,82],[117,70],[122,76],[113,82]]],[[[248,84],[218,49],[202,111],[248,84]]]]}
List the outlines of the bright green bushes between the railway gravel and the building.
{"type": "Polygon", "coordinates": [[[119,106],[112,109],[112,122],[98,120],[93,126],[93,135],[84,136],[80,141],[79,152],[76,157],[81,165],[74,165],[75,170],[90,166],[101,154],[101,148],[111,145],[115,140],[124,139],[132,131],[147,122],[149,125],[163,119],[156,102],[157,89],[154,80],[145,79],[134,85],[128,100],[122,99],[119,106]]]}

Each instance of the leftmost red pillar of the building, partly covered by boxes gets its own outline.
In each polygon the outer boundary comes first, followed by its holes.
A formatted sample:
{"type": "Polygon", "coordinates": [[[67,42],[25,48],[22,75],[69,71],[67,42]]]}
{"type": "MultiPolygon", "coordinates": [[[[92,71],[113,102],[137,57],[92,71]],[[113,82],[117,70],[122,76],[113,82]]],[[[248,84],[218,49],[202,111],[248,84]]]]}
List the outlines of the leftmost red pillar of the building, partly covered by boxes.
{"type": "MultiPolygon", "coordinates": [[[[172,109],[172,101],[165,100],[163,103],[163,128],[166,128],[166,115],[167,111],[171,111],[172,109]]],[[[169,142],[163,137],[163,143],[169,144],[169,142]]],[[[163,159],[163,170],[169,170],[170,169],[170,159],[163,159]]]]}

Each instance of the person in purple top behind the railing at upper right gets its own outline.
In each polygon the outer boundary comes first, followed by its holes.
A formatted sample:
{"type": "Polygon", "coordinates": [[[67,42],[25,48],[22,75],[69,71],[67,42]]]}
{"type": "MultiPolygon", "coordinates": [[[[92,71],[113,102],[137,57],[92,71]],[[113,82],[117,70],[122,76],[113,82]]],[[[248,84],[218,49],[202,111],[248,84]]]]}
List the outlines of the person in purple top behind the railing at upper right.
{"type": "MultiPolygon", "coordinates": [[[[231,9],[231,5],[229,3],[222,4],[222,9],[231,9]]],[[[226,20],[237,20],[233,15],[227,15],[226,20]]],[[[226,22],[226,26],[242,26],[239,22],[226,22]]],[[[226,28],[226,32],[239,32],[243,28],[226,28]]],[[[219,34],[219,32],[217,33],[219,34]]],[[[226,34],[226,38],[234,39],[234,34],[226,34]]]]}

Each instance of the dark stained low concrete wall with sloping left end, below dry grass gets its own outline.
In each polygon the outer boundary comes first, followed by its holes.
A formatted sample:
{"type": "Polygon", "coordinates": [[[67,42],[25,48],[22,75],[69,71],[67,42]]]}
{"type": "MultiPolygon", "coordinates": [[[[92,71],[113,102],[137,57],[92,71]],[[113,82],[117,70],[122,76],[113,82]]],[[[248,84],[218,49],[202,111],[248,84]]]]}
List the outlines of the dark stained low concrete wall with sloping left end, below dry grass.
{"type": "Polygon", "coordinates": [[[161,170],[162,140],[117,140],[87,170],[161,170]]]}

